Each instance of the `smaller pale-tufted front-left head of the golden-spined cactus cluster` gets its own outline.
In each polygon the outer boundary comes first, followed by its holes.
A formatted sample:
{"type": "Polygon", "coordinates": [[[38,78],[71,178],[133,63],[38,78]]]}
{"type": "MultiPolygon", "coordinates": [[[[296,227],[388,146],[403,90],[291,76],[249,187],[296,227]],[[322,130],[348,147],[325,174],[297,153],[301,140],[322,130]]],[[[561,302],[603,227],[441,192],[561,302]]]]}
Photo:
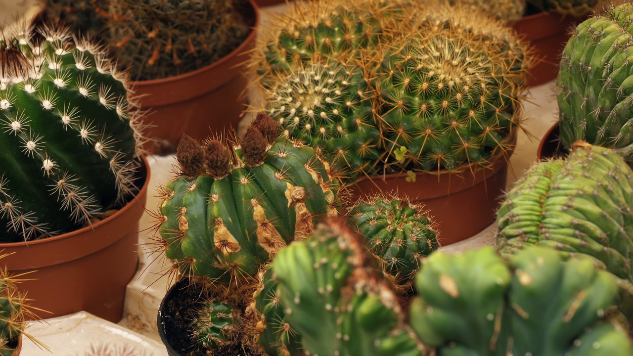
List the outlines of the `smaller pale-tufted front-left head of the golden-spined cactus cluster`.
{"type": "Polygon", "coordinates": [[[267,111],[288,136],[360,172],[380,156],[371,95],[359,67],[308,63],[268,91],[267,111]]]}

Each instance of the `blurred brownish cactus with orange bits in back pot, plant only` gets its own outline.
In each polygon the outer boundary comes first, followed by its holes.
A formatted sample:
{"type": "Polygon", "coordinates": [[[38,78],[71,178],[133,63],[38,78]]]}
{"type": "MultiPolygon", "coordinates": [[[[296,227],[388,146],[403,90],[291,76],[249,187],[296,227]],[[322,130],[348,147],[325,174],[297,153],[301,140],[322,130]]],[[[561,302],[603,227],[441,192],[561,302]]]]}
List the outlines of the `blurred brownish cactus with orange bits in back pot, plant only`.
{"type": "Polygon", "coordinates": [[[192,72],[244,41],[249,28],[232,0],[110,0],[106,35],[122,68],[134,80],[192,72]]]}

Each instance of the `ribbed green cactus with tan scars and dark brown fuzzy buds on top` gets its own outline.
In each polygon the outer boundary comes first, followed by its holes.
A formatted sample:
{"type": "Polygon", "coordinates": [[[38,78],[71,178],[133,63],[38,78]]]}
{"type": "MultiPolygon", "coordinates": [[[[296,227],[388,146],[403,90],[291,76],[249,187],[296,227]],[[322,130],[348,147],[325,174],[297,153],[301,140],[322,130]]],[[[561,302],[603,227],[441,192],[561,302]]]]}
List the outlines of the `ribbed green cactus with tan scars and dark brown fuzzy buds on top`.
{"type": "Polygon", "coordinates": [[[157,229],[185,275],[244,283],[283,246],[337,215],[339,182],[315,151],[277,139],[261,113],[239,144],[180,141],[179,177],[165,187],[157,229]]]}

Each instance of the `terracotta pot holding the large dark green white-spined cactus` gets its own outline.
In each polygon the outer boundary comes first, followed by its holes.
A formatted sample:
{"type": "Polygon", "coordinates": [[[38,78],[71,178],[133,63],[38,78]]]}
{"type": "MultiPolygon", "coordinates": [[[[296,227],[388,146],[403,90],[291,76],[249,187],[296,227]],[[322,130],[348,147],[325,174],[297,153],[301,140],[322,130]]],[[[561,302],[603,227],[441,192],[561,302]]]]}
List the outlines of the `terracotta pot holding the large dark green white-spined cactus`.
{"type": "Polygon", "coordinates": [[[13,253],[3,258],[9,274],[30,272],[17,287],[30,305],[52,313],[40,317],[85,310],[111,322],[122,319],[125,286],[139,261],[139,219],[149,183],[149,165],[142,160],[141,191],[110,217],[52,238],[0,244],[3,253],[13,253]]]}

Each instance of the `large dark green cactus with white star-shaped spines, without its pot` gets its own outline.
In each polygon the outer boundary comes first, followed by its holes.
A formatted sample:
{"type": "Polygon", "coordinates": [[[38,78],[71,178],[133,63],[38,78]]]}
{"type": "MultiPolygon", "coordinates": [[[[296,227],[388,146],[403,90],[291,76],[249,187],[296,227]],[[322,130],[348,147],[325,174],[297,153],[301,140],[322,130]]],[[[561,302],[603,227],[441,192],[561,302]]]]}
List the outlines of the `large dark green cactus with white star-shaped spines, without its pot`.
{"type": "Polygon", "coordinates": [[[125,76],[65,29],[0,39],[3,242],[74,231],[133,196],[142,144],[125,76]]]}

